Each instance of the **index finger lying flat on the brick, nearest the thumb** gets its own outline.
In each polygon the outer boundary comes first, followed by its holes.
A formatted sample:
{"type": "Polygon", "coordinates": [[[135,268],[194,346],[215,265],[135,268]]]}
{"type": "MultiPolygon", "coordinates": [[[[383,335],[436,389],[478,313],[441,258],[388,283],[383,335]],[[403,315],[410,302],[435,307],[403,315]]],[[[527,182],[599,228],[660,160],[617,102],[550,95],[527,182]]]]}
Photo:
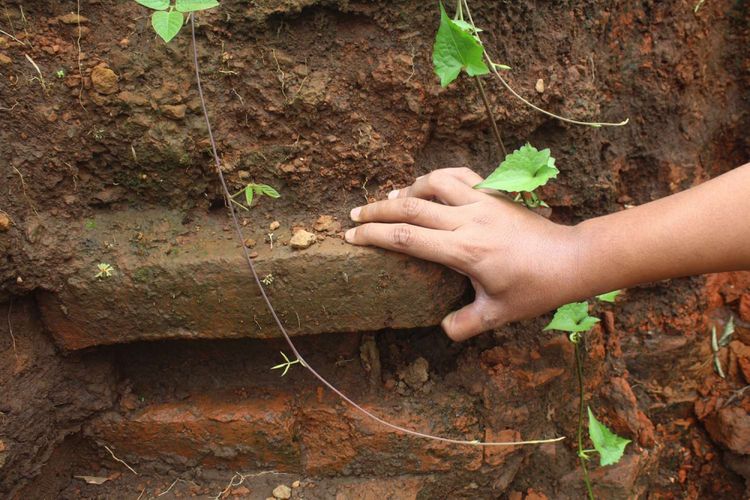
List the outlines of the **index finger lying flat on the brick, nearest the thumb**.
{"type": "Polygon", "coordinates": [[[456,242],[453,233],[410,224],[380,224],[371,222],[350,229],[346,241],[354,245],[372,245],[386,250],[412,255],[446,266],[463,268],[451,251],[456,242]]]}

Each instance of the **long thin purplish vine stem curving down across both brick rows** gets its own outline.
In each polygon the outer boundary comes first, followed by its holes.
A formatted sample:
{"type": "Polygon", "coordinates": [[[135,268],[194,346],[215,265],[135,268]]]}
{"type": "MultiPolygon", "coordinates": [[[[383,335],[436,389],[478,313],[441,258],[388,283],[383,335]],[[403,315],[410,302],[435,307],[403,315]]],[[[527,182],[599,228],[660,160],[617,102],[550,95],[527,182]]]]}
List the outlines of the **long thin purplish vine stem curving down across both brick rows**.
{"type": "Polygon", "coordinates": [[[218,173],[219,180],[221,181],[221,187],[224,193],[224,198],[226,199],[226,202],[227,202],[227,206],[229,208],[229,213],[231,214],[231,217],[232,217],[232,224],[237,233],[237,236],[239,237],[240,244],[242,245],[242,251],[245,255],[245,260],[247,261],[247,264],[250,267],[250,271],[253,274],[255,283],[258,285],[258,289],[260,290],[260,294],[263,297],[263,301],[265,302],[266,307],[268,308],[268,311],[271,313],[271,316],[276,322],[276,325],[278,326],[279,331],[284,336],[284,339],[286,340],[287,344],[289,344],[289,348],[292,350],[292,353],[299,360],[300,364],[304,366],[305,368],[307,368],[310,374],[312,374],[313,377],[318,379],[320,383],[328,387],[328,389],[330,389],[334,394],[336,394],[338,397],[340,397],[349,405],[351,405],[355,410],[359,411],[360,413],[374,420],[375,422],[378,422],[384,427],[387,427],[397,432],[401,432],[409,436],[415,436],[419,438],[429,439],[432,441],[440,441],[440,442],[449,443],[449,444],[471,445],[471,446],[522,446],[522,445],[555,443],[555,442],[562,441],[563,439],[565,439],[565,437],[562,436],[562,437],[557,437],[557,438],[552,438],[552,439],[535,439],[531,441],[482,442],[482,441],[477,441],[477,440],[469,441],[466,439],[452,439],[452,438],[446,438],[442,436],[433,436],[431,434],[426,434],[426,433],[415,431],[412,429],[407,429],[406,427],[401,427],[400,425],[392,424],[386,420],[383,420],[379,416],[363,408],[362,406],[354,402],[351,398],[349,398],[346,394],[344,394],[339,389],[337,389],[332,383],[326,380],[312,366],[310,366],[310,364],[307,361],[305,361],[305,359],[302,357],[300,352],[297,350],[297,347],[294,345],[294,342],[292,342],[292,338],[290,337],[289,333],[284,327],[284,324],[281,322],[279,315],[276,313],[276,309],[273,307],[273,304],[271,304],[271,300],[269,299],[268,294],[266,293],[266,289],[263,286],[263,283],[261,282],[261,279],[260,279],[260,276],[258,275],[257,270],[255,269],[253,260],[250,258],[250,250],[247,248],[247,245],[245,245],[245,238],[242,233],[242,226],[240,225],[239,219],[237,218],[237,212],[231,203],[232,195],[229,191],[229,186],[227,185],[227,181],[224,177],[224,172],[222,172],[221,170],[221,159],[219,158],[218,149],[216,147],[216,139],[214,137],[213,129],[211,127],[211,120],[209,119],[209,116],[208,116],[208,106],[206,104],[206,98],[203,93],[203,85],[201,83],[200,63],[198,61],[198,43],[196,41],[196,36],[195,36],[195,13],[190,15],[190,28],[191,28],[191,34],[192,34],[193,64],[195,66],[195,79],[196,79],[196,83],[198,86],[198,95],[200,97],[201,107],[203,109],[203,116],[205,117],[205,120],[206,120],[206,128],[208,130],[208,137],[211,142],[211,152],[213,154],[214,163],[216,164],[216,171],[218,173]]]}

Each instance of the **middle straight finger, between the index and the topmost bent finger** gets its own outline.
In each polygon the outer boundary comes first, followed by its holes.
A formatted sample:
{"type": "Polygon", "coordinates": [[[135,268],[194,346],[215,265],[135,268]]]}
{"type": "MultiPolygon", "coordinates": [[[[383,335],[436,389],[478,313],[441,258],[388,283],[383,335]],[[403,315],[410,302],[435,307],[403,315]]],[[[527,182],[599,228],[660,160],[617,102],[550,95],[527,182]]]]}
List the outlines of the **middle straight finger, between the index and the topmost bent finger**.
{"type": "Polygon", "coordinates": [[[355,222],[406,222],[431,229],[453,231],[463,224],[459,209],[419,198],[398,198],[352,210],[355,222]]]}

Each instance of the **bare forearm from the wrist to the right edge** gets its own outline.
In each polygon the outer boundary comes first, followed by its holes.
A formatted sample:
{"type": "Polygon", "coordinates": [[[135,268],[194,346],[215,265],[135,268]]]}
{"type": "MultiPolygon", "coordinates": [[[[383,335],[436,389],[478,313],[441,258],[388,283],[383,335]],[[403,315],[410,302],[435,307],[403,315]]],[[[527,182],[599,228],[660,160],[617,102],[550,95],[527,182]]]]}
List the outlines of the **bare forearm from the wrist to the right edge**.
{"type": "Polygon", "coordinates": [[[579,233],[578,294],[750,269],[750,164],[687,191],[591,219],[579,233]]]}

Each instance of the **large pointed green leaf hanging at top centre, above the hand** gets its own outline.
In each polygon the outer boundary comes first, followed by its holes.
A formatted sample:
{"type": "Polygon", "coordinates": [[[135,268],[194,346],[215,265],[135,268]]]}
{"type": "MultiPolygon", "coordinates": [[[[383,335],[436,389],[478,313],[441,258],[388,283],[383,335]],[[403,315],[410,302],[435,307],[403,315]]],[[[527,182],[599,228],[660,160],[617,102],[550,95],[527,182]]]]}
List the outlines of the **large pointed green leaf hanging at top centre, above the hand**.
{"type": "Polygon", "coordinates": [[[432,63],[440,77],[440,85],[447,87],[461,70],[469,76],[486,75],[490,72],[484,60],[484,48],[445,12],[440,4],[440,28],[435,37],[432,63]]]}

